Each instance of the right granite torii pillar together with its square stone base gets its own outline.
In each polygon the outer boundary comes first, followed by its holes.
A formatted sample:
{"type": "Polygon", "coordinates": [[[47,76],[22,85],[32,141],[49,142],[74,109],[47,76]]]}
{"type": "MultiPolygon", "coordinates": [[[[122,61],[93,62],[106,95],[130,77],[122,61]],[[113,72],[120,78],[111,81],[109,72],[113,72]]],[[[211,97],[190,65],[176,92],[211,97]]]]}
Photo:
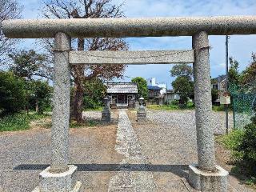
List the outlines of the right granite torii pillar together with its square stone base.
{"type": "Polygon", "coordinates": [[[198,165],[190,166],[190,184],[202,191],[226,191],[226,170],[215,165],[214,129],[211,126],[209,41],[205,31],[195,34],[194,102],[198,143],[198,165]]]}

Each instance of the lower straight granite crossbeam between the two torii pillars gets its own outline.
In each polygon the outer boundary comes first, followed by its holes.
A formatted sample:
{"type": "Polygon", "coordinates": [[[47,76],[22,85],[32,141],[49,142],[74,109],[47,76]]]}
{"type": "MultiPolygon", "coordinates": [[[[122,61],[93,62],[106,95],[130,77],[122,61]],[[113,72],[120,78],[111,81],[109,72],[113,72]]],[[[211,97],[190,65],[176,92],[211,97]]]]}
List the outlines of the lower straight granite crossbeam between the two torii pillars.
{"type": "Polygon", "coordinates": [[[70,64],[169,64],[194,62],[194,50],[70,51],[70,64]]]}

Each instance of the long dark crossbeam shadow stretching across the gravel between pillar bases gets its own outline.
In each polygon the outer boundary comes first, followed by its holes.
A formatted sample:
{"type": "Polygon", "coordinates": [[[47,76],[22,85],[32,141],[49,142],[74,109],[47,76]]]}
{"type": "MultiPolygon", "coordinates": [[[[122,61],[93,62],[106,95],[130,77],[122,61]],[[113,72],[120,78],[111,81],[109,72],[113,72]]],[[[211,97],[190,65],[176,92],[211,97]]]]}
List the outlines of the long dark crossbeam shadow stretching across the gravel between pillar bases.
{"type": "MultiPolygon", "coordinates": [[[[150,165],[150,164],[74,164],[78,171],[152,171],[171,172],[181,178],[187,178],[187,165],[150,165]]],[[[14,170],[44,170],[47,164],[22,164],[14,170]]]]}

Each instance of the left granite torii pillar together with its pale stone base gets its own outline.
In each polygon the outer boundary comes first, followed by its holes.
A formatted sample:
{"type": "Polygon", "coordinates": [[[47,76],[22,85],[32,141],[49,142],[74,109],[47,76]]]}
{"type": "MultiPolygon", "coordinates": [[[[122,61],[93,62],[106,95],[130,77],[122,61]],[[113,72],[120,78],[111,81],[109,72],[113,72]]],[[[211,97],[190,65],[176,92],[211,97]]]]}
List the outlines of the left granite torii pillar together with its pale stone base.
{"type": "Polygon", "coordinates": [[[69,163],[70,129],[70,37],[55,35],[54,42],[54,110],[51,129],[51,165],[40,173],[34,191],[79,191],[81,182],[74,182],[76,166],[69,163]]]}

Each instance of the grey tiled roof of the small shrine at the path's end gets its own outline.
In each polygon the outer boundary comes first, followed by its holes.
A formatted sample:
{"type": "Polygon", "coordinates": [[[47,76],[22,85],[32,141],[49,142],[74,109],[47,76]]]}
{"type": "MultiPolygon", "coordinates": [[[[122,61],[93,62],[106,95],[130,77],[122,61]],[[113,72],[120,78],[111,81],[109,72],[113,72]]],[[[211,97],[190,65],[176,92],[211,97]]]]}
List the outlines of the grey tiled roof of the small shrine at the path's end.
{"type": "Polygon", "coordinates": [[[138,94],[138,87],[133,82],[108,82],[106,83],[107,94],[138,94]]]}

